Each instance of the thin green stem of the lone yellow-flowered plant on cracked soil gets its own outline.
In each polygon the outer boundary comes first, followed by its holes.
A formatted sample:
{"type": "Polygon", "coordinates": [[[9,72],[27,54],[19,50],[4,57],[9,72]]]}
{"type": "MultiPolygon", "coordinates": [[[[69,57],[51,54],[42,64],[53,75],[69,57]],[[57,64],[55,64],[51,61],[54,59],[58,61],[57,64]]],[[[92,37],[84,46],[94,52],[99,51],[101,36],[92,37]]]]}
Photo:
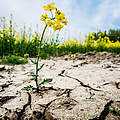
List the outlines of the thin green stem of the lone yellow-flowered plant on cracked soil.
{"type": "Polygon", "coordinates": [[[47,28],[47,25],[44,27],[43,32],[42,32],[42,36],[41,36],[39,47],[38,47],[38,56],[37,56],[37,60],[36,60],[36,77],[35,77],[35,81],[36,81],[37,90],[39,90],[39,85],[38,85],[38,67],[39,66],[38,66],[38,62],[39,62],[39,59],[40,59],[41,43],[42,43],[46,28],[47,28]]]}

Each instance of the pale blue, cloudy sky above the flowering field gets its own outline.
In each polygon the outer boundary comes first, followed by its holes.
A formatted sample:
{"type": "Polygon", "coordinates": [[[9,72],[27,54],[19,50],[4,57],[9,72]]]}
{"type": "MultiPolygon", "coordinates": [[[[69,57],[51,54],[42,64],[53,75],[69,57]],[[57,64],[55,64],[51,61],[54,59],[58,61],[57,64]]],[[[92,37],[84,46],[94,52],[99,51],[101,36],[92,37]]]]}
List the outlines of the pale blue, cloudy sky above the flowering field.
{"type": "Polygon", "coordinates": [[[41,30],[43,5],[51,2],[68,18],[68,25],[62,31],[64,36],[120,29],[120,0],[0,0],[0,17],[10,19],[12,13],[18,26],[36,29],[39,24],[38,30],[41,30]]]}

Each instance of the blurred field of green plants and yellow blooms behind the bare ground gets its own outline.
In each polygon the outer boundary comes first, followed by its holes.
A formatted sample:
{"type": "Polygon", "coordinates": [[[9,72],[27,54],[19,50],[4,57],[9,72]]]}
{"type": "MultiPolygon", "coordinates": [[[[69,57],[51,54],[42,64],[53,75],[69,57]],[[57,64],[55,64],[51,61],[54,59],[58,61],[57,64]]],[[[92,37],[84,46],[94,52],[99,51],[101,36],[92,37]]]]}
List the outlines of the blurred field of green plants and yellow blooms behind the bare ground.
{"type": "MultiPolygon", "coordinates": [[[[36,57],[41,34],[33,32],[27,26],[19,29],[19,26],[12,21],[12,17],[11,15],[9,21],[5,17],[0,19],[0,57],[7,55],[23,57],[25,54],[36,57]]],[[[62,39],[59,32],[53,33],[49,29],[42,42],[41,58],[90,51],[120,53],[120,30],[91,32],[84,39],[78,39],[77,36],[76,38],[62,39]]]]}

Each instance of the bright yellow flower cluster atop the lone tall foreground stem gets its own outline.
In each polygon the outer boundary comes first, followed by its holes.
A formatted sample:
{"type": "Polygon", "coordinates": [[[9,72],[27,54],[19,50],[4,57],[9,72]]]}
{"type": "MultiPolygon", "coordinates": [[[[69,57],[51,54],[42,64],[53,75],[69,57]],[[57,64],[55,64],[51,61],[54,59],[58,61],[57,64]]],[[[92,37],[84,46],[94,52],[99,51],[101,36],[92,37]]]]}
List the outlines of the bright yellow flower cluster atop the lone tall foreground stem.
{"type": "Polygon", "coordinates": [[[45,11],[51,12],[51,17],[48,16],[47,13],[41,16],[41,21],[44,21],[46,25],[52,27],[54,31],[61,30],[64,25],[67,25],[68,21],[65,18],[65,14],[61,13],[56,7],[54,7],[55,3],[51,3],[47,6],[43,6],[45,11]],[[54,13],[54,14],[53,14],[54,13]]]}

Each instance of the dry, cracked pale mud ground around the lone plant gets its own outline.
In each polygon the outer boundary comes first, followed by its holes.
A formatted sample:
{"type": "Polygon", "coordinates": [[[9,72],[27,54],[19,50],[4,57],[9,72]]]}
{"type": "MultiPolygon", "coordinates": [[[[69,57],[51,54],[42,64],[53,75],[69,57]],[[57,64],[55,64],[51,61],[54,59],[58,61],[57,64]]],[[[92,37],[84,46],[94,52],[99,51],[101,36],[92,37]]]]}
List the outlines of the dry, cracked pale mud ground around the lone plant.
{"type": "Polygon", "coordinates": [[[41,78],[53,81],[39,93],[24,90],[35,87],[29,74],[35,68],[32,63],[0,66],[3,120],[120,120],[119,54],[77,53],[42,63],[41,78]]]}

